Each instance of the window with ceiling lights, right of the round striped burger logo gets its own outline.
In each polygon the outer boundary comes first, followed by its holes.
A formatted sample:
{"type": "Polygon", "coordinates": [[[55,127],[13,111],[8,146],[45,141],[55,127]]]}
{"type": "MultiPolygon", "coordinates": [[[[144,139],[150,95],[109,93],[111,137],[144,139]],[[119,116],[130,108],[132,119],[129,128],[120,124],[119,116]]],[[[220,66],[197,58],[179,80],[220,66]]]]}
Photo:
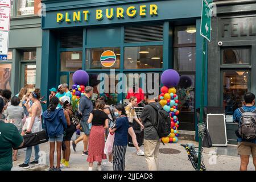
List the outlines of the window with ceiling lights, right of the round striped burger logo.
{"type": "Polygon", "coordinates": [[[163,46],[125,47],[125,69],[163,68],[163,46]]]}

